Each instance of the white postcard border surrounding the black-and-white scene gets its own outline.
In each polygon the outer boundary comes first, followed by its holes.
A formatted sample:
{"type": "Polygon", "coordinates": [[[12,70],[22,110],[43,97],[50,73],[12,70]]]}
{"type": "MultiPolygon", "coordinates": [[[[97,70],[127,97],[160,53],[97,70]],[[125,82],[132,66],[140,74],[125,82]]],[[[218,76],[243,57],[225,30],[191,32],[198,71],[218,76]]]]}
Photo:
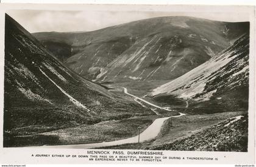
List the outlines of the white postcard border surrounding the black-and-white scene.
{"type": "MultiPolygon", "coordinates": [[[[25,1],[26,2],[26,1],[25,1]]],[[[94,1],[95,2],[95,1],[94,1]]],[[[99,2],[99,1],[97,1],[99,2]]],[[[9,9],[40,9],[40,10],[143,10],[143,11],[211,11],[211,12],[240,12],[248,15],[250,23],[250,80],[249,80],[249,148],[248,152],[199,152],[199,151],[163,151],[165,155],[179,155],[191,157],[218,157],[214,163],[253,164],[255,163],[255,8],[250,6],[204,6],[204,5],[64,5],[64,4],[0,4],[0,22],[4,22],[4,13],[9,9]]],[[[85,154],[85,149],[32,149],[32,148],[2,148],[2,120],[3,120],[3,95],[4,95],[4,24],[0,25],[0,163],[88,163],[83,159],[56,159],[56,158],[31,158],[31,154],[85,154]],[[1,162],[2,161],[2,162],[1,162]]],[[[126,150],[127,151],[127,150],[126,150]]],[[[90,162],[92,163],[92,162],[90,162]]],[[[102,162],[93,162],[102,163],[102,162]]],[[[109,162],[104,162],[109,163],[109,162]]],[[[116,163],[116,162],[115,162],[116,163]]],[[[177,161],[168,163],[213,163],[207,161],[177,161]]]]}

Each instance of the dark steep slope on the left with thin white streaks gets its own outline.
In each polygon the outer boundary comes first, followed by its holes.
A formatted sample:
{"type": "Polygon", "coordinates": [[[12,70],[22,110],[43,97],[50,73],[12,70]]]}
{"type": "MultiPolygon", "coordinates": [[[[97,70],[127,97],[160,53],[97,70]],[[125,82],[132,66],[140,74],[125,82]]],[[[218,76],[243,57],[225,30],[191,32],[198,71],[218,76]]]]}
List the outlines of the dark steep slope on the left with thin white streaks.
{"type": "Polygon", "coordinates": [[[71,72],[8,15],[4,75],[5,137],[154,114],[71,72]]]}

